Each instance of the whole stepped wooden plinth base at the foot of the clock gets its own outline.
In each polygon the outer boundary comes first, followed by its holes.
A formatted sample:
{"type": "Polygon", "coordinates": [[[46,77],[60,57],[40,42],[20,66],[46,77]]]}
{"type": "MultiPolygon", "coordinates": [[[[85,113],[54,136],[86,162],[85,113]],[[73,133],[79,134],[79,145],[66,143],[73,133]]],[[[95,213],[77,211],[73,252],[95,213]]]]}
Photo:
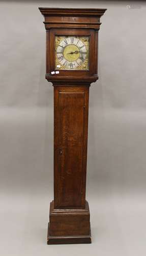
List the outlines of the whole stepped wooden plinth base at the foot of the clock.
{"type": "Polygon", "coordinates": [[[55,209],[50,203],[47,244],[91,243],[90,211],[84,209],[55,209]]]}

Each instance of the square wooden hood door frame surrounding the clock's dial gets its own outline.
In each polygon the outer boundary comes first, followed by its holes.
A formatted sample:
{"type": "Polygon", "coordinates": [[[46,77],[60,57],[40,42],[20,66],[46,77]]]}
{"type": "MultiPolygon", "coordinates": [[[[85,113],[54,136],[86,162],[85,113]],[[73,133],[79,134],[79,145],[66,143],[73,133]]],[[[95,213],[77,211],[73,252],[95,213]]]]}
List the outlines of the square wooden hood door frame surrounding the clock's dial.
{"type": "Polygon", "coordinates": [[[52,80],[57,77],[58,79],[66,80],[66,77],[73,80],[81,77],[85,80],[87,77],[96,76],[97,79],[97,40],[98,33],[94,29],[62,29],[51,28],[47,33],[46,45],[46,79],[52,80]],[[55,36],[89,36],[89,70],[59,70],[59,74],[51,76],[51,71],[55,71],[55,36]]]}

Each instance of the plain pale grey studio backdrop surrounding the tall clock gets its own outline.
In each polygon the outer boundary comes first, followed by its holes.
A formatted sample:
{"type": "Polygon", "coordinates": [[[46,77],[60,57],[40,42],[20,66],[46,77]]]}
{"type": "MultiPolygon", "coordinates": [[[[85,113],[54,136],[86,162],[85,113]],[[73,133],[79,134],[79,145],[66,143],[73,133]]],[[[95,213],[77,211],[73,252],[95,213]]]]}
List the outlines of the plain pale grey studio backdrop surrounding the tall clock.
{"type": "Polygon", "coordinates": [[[145,255],[145,3],[1,1],[1,255],[145,255]],[[129,4],[139,9],[127,9],[129,4]],[[86,199],[91,245],[47,246],[53,88],[38,7],[107,8],[90,88],[86,199]]]}

